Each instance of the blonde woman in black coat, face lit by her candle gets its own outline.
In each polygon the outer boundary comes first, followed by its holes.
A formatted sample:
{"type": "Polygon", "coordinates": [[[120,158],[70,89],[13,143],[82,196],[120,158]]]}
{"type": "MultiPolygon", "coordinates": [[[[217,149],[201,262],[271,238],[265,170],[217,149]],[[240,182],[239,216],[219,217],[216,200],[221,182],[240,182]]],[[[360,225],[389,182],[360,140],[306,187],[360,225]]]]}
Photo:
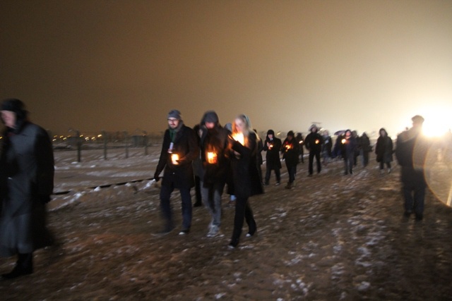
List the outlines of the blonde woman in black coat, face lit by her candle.
{"type": "Polygon", "coordinates": [[[247,237],[256,233],[256,221],[249,205],[249,197],[263,193],[262,179],[258,172],[258,137],[246,115],[239,115],[232,125],[229,138],[232,178],[234,181],[235,214],[230,248],[239,245],[244,219],[248,224],[247,237]]]}

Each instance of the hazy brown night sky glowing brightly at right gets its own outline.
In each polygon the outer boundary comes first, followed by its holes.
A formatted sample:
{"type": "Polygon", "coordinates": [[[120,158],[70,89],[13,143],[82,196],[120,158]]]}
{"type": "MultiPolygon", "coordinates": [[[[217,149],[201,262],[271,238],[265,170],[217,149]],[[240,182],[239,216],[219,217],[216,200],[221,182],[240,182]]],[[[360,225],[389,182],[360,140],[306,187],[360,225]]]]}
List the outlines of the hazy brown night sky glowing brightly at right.
{"type": "Polygon", "coordinates": [[[0,30],[1,99],[56,133],[452,127],[450,0],[2,0],[0,30]]]}

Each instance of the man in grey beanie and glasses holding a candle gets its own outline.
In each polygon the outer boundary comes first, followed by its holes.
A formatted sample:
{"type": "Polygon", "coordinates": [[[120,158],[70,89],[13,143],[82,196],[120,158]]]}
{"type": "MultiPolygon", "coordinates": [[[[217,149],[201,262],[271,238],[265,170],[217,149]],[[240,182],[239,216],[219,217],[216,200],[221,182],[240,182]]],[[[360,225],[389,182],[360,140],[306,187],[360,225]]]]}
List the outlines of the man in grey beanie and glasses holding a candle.
{"type": "Polygon", "coordinates": [[[160,207],[165,218],[165,228],[159,234],[166,234],[174,228],[172,209],[169,202],[174,188],[179,189],[182,199],[182,230],[179,235],[188,234],[191,227],[191,195],[194,187],[192,162],[199,154],[198,138],[193,129],[184,125],[177,110],[168,113],[168,129],[165,131],[162,152],[154,173],[155,181],[165,168],[160,189],[160,207]]]}

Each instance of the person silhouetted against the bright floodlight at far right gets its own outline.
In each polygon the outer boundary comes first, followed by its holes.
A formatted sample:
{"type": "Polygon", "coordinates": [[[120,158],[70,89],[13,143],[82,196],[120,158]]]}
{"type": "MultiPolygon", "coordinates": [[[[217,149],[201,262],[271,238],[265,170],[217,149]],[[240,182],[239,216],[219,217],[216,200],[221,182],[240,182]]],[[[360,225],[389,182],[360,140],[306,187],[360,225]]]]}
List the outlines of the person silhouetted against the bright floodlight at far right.
{"type": "Polygon", "coordinates": [[[405,198],[405,217],[415,213],[415,219],[424,218],[425,178],[424,163],[429,149],[427,137],[422,135],[424,118],[416,115],[412,120],[412,128],[397,136],[396,158],[401,166],[400,180],[405,198]]]}

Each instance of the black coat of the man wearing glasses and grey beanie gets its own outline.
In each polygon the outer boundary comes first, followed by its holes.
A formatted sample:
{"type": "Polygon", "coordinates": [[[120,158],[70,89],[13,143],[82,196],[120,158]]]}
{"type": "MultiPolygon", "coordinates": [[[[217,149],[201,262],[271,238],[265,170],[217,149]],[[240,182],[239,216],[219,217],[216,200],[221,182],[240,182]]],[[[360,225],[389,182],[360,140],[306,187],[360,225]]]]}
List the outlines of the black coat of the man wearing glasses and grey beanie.
{"type": "Polygon", "coordinates": [[[163,168],[162,185],[174,185],[174,188],[192,188],[195,185],[192,162],[199,154],[198,138],[191,128],[180,121],[179,130],[174,137],[172,154],[179,155],[179,164],[172,164],[171,154],[168,153],[171,137],[169,129],[163,137],[162,152],[155,171],[159,175],[163,168]]]}

